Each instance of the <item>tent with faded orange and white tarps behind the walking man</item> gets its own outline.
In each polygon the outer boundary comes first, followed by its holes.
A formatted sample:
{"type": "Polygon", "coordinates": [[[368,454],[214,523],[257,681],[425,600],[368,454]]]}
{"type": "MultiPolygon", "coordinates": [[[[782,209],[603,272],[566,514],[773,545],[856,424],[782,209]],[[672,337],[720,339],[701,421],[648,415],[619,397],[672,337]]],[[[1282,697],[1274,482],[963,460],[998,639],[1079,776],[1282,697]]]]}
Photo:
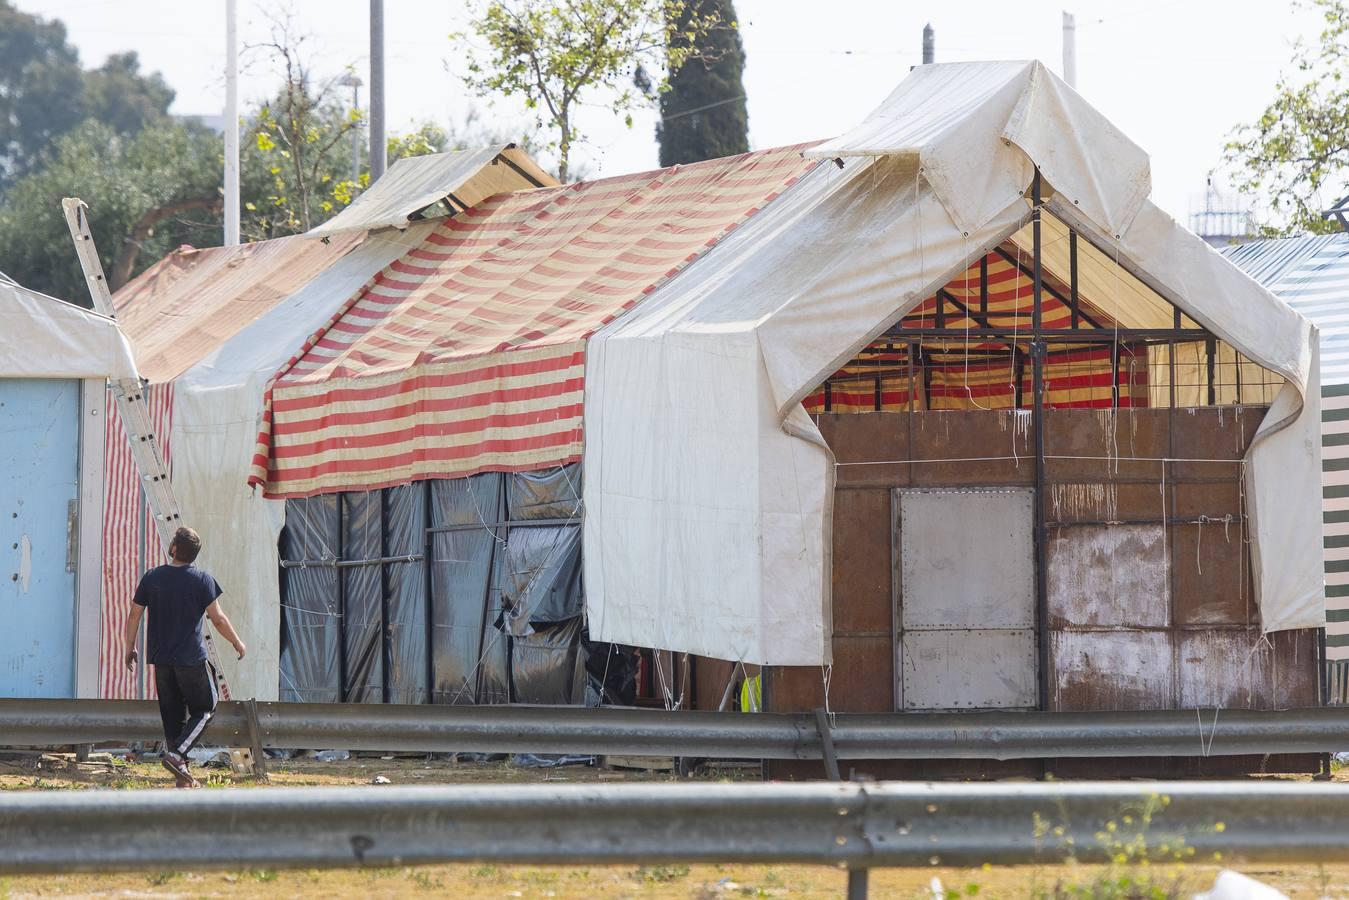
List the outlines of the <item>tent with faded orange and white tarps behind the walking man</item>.
{"type": "MultiPolygon", "coordinates": [[[[478,200],[540,181],[552,178],[513,146],[399,161],[347,210],[305,235],[179,250],[113,298],[152,382],[151,413],[167,436],[183,521],[201,533],[201,564],[224,587],[221,603],[250,646],[243,665],[221,658],[236,696],[278,696],[277,541],[285,503],[247,483],[268,379],[367,282],[417,247],[436,216],[457,212],[452,197],[478,200]]],[[[108,636],[120,633],[140,571],[155,563],[138,538],[146,522],[125,439],[113,428],[109,440],[105,648],[108,636]]],[[[101,680],[104,696],[138,695],[107,652],[101,680]]]]}

